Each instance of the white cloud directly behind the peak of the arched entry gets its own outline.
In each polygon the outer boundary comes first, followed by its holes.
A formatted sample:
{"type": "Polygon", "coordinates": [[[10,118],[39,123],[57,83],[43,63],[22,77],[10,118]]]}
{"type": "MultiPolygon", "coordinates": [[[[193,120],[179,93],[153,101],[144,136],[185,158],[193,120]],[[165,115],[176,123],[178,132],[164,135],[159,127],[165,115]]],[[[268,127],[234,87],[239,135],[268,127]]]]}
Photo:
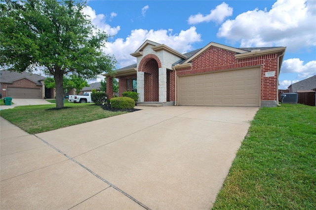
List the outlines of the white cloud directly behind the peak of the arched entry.
{"type": "Polygon", "coordinates": [[[201,41],[201,35],[197,33],[195,27],[191,27],[188,30],[181,30],[178,34],[172,34],[172,29],[136,29],[132,30],[125,40],[118,38],[114,42],[106,43],[107,48],[104,49],[104,52],[113,54],[118,60],[119,66],[124,67],[136,62],[136,58],[129,54],[134,53],[146,39],[165,44],[180,53],[186,53],[194,49],[192,46],[193,43],[201,41]]]}

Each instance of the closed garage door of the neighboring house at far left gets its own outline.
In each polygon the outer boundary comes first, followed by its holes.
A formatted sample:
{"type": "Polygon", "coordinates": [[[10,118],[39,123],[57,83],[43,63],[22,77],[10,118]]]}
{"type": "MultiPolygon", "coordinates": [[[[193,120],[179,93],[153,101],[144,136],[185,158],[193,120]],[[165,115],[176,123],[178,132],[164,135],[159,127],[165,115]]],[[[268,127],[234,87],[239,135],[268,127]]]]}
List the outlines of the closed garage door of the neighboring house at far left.
{"type": "Polygon", "coordinates": [[[7,96],[12,98],[42,98],[40,89],[7,87],[7,96]]]}

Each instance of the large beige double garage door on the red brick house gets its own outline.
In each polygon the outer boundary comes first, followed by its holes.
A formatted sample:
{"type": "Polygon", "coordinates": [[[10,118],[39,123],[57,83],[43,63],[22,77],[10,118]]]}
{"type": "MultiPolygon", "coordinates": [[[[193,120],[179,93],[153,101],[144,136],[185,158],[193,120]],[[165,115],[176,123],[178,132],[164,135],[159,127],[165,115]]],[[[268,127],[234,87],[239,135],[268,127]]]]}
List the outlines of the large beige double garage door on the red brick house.
{"type": "Polygon", "coordinates": [[[260,67],[180,76],[178,103],[187,106],[252,106],[260,103],[260,67]]]}

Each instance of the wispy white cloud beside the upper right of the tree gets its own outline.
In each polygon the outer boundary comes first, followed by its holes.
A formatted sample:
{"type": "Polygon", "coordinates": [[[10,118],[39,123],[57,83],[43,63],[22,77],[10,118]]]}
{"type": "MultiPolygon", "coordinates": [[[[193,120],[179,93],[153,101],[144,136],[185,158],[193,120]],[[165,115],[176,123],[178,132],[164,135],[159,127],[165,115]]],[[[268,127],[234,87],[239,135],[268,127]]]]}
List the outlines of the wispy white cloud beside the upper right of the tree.
{"type": "MultiPolygon", "coordinates": [[[[105,31],[108,35],[114,36],[120,30],[120,26],[111,27],[109,24],[106,24],[106,16],[104,14],[96,14],[95,10],[90,6],[86,6],[83,9],[83,13],[90,16],[91,22],[94,26],[96,26],[99,30],[105,31]]],[[[116,13],[111,13],[111,18],[117,16],[116,13]]]]}

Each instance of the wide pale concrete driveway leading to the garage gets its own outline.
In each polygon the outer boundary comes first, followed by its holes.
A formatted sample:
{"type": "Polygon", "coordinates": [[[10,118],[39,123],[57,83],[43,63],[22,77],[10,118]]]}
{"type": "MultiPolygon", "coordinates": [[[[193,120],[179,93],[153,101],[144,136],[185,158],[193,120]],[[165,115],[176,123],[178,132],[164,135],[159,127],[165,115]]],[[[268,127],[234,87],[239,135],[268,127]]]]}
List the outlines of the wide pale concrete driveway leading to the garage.
{"type": "Polygon", "coordinates": [[[1,119],[1,210],[210,209],[258,108],[142,109],[36,135],[1,119]]]}

